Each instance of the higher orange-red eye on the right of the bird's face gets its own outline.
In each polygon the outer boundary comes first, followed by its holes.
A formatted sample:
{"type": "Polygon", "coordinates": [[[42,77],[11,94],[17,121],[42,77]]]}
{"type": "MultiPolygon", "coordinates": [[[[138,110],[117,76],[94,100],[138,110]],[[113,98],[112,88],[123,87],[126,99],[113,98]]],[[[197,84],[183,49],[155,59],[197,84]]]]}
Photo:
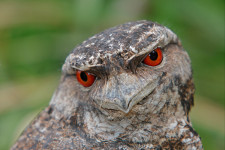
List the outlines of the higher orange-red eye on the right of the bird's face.
{"type": "Polygon", "coordinates": [[[143,60],[143,63],[149,66],[157,66],[162,62],[163,55],[160,48],[156,48],[154,51],[148,54],[143,60]]]}

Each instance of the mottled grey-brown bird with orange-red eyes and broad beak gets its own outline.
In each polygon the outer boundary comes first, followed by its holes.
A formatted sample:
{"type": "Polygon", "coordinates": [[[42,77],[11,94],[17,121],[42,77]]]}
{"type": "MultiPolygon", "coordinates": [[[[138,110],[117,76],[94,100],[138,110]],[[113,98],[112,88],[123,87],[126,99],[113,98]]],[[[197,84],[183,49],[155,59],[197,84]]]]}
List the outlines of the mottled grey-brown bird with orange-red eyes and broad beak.
{"type": "Polygon", "coordinates": [[[147,20],[104,30],[66,57],[49,105],[15,149],[203,149],[189,55],[169,28],[147,20]]]}

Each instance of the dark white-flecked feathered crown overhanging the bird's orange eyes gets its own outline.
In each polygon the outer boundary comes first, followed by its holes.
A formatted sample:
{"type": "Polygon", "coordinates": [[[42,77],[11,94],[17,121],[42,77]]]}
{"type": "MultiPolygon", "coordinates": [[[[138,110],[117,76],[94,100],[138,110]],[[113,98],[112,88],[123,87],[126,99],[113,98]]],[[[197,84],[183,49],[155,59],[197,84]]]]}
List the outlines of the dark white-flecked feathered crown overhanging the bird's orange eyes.
{"type": "Polygon", "coordinates": [[[86,70],[110,62],[112,58],[126,61],[171,41],[176,42],[177,37],[164,26],[150,21],[129,22],[84,41],[68,56],[67,63],[86,70]]]}

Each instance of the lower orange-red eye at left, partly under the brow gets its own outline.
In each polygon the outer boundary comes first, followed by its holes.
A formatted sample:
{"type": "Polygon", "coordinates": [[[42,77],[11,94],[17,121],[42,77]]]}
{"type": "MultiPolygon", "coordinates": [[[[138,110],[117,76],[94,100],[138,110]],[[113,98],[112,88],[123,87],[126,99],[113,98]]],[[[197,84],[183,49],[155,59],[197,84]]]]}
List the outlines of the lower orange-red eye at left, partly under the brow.
{"type": "Polygon", "coordinates": [[[77,75],[77,80],[84,87],[91,86],[94,83],[96,78],[94,75],[85,71],[80,71],[80,70],[77,70],[76,75],[77,75]]]}

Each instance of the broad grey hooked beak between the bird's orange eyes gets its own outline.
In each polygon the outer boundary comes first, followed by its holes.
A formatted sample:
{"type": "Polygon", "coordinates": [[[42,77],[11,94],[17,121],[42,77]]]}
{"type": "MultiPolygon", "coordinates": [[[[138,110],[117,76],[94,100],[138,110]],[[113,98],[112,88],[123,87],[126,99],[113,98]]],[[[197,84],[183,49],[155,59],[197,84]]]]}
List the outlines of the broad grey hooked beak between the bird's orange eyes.
{"type": "Polygon", "coordinates": [[[107,81],[107,85],[102,88],[104,89],[102,93],[96,92],[99,95],[95,97],[95,101],[102,108],[128,113],[135,104],[155,89],[155,84],[156,82],[146,82],[135,77],[128,77],[127,74],[124,76],[120,74],[107,81]]]}

